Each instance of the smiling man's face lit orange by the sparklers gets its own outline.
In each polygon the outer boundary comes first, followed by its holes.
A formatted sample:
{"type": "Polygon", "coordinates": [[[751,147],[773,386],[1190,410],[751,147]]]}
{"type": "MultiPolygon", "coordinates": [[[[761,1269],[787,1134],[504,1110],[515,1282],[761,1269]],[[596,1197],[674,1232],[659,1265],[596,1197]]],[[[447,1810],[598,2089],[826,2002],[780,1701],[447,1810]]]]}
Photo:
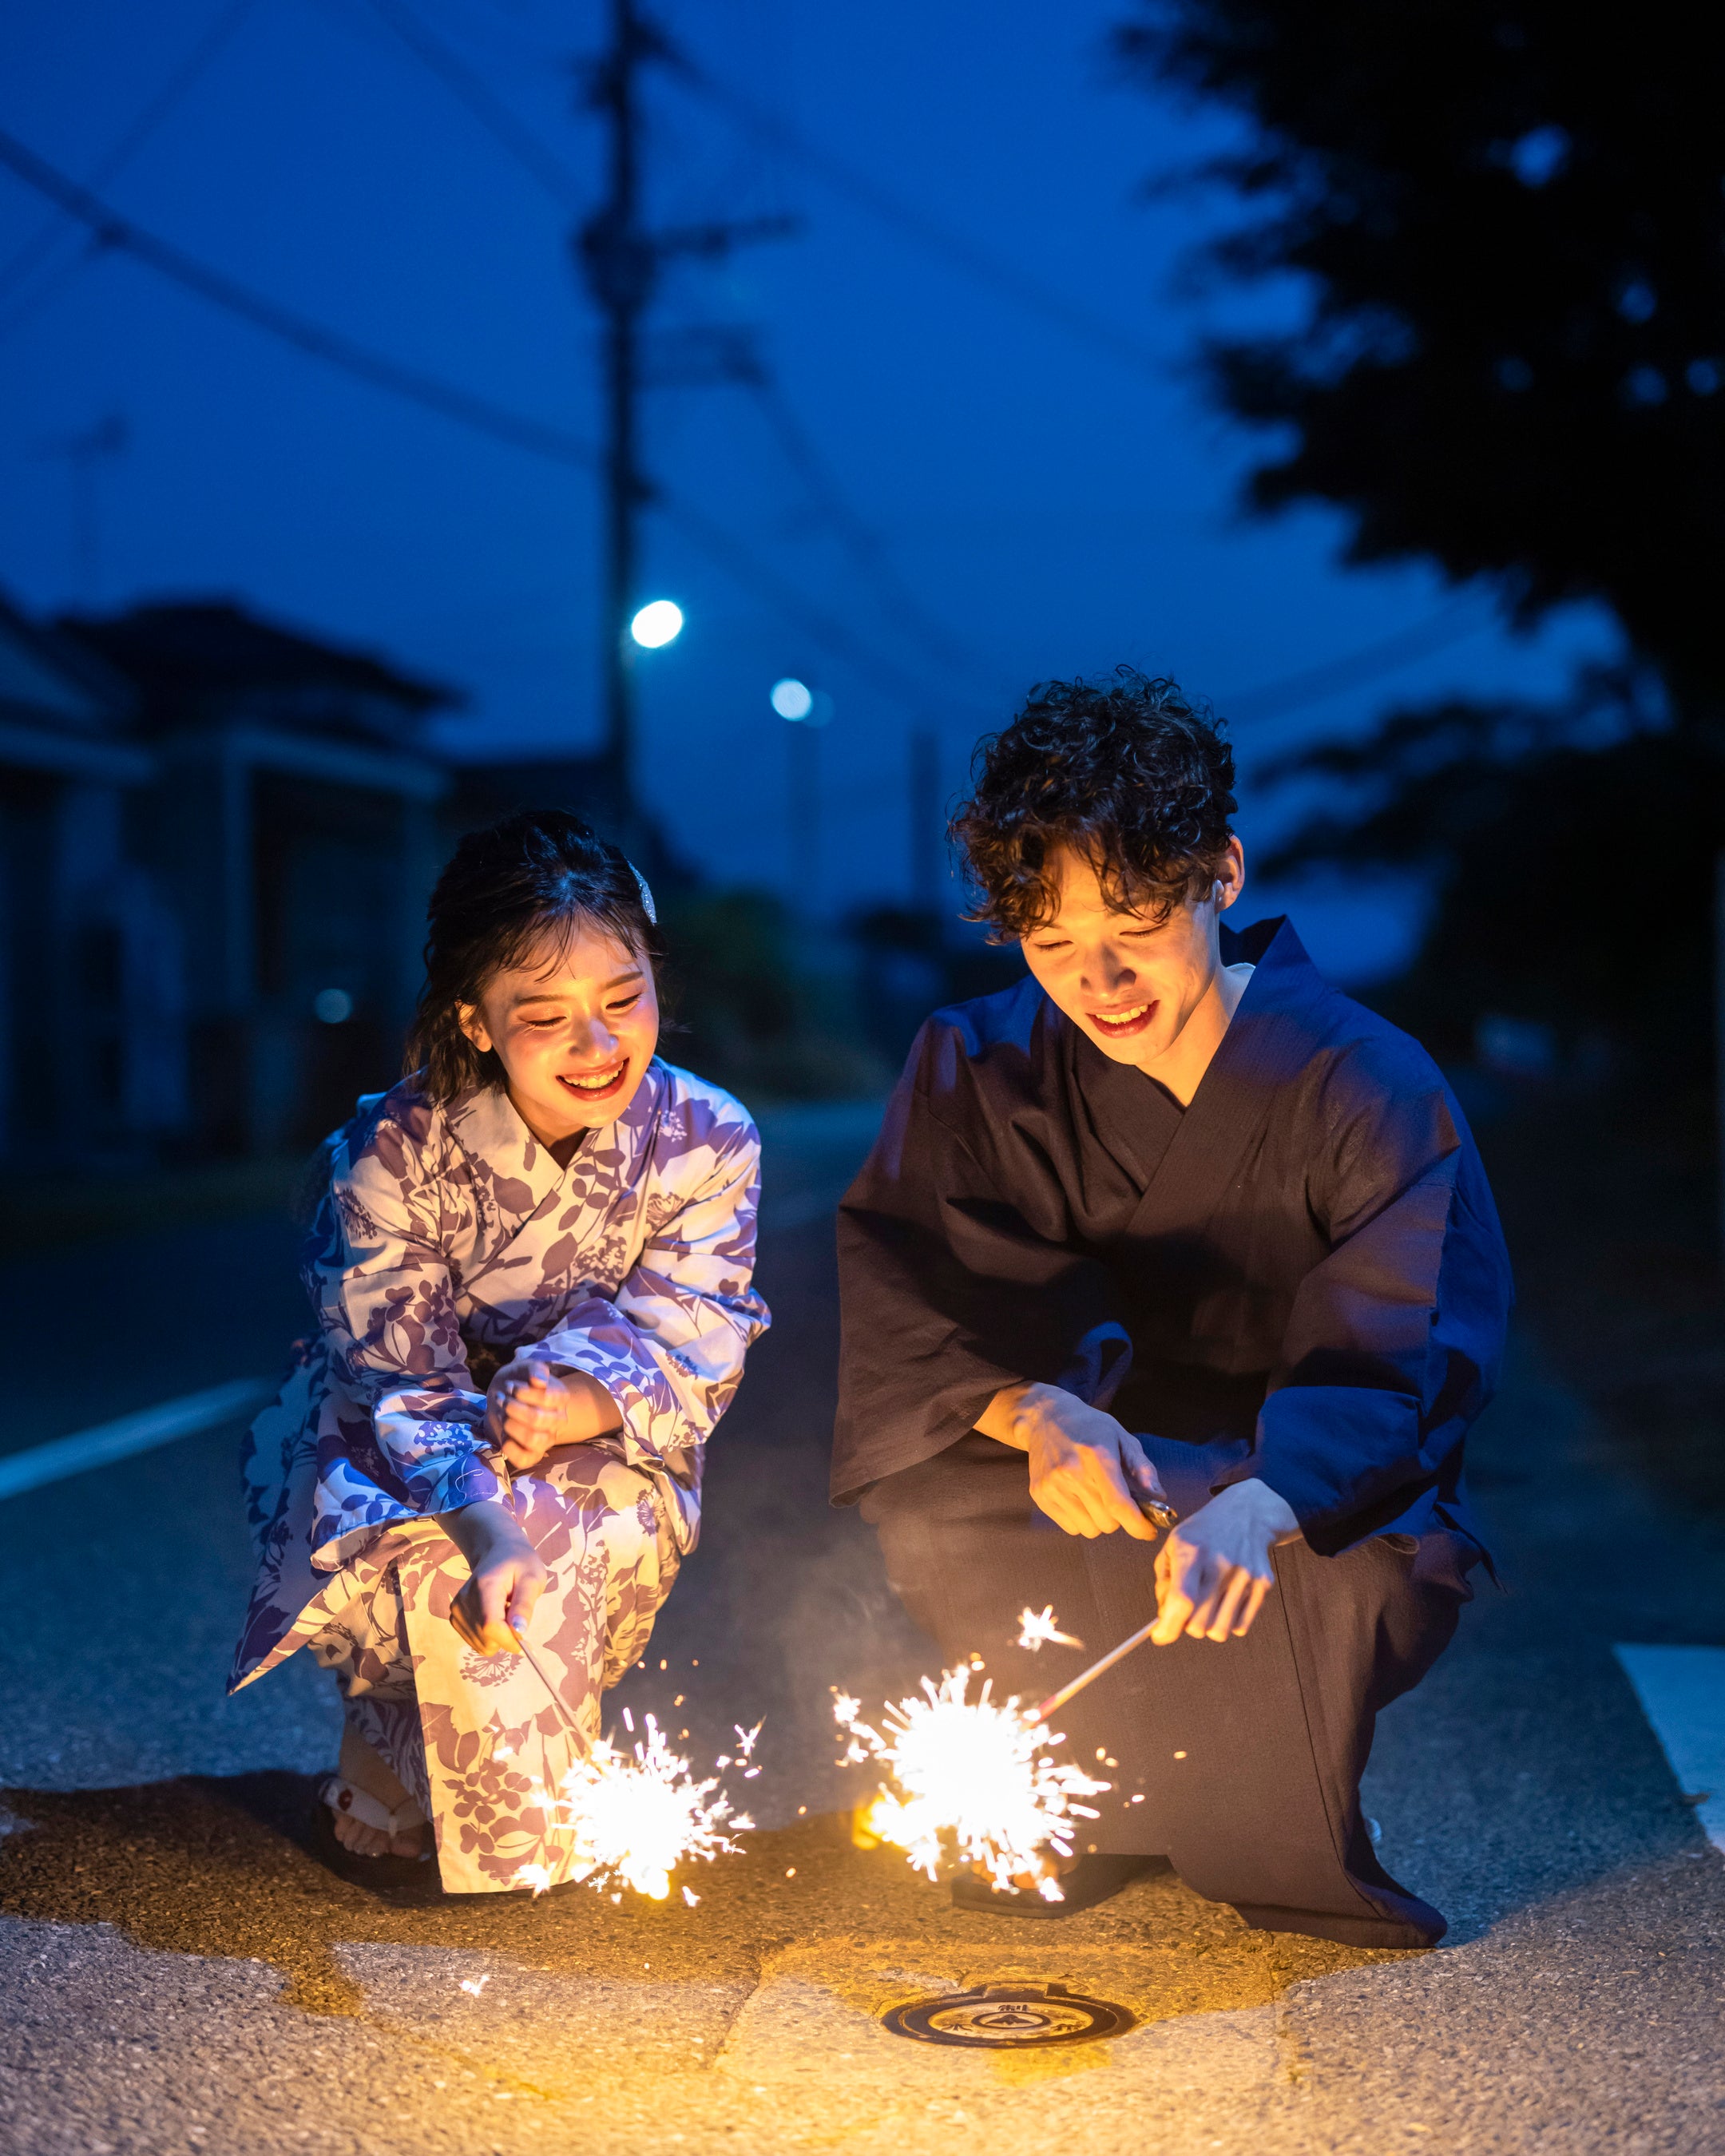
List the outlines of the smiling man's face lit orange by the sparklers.
{"type": "Polygon", "coordinates": [[[1210,895],[1182,901],[1167,921],[1110,908],[1095,869],[1072,847],[1059,847],[1048,867],[1059,906],[1024,938],[1024,964],[1104,1056],[1154,1069],[1223,968],[1216,929],[1244,884],[1240,841],[1229,841],[1210,895]]]}

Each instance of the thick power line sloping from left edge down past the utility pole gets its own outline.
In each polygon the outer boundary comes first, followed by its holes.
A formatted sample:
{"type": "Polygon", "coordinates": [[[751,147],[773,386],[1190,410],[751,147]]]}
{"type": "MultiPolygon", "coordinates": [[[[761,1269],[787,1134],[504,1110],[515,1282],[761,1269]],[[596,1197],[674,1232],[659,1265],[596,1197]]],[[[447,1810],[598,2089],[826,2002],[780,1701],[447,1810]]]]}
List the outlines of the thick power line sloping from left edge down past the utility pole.
{"type": "MultiPolygon", "coordinates": [[[[196,293],[211,306],[220,306],[226,313],[237,315],[242,321],[252,323],[252,328],[265,330],[270,336],[291,345],[295,351],[304,351],[310,358],[321,360],[326,367],[354,375],[371,388],[388,390],[392,397],[403,397],[408,403],[436,412],[440,418],[451,418],[461,427],[470,427],[494,442],[505,442],[511,448],[522,448],[528,451],[528,455],[548,457],[552,464],[574,466],[582,472],[597,472],[602,468],[599,453],[591,442],[580,440],[580,436],[567,433],[563,427],[552,427],[537,418],[526,418],[520,412],[492,403],[487,397],[477,397],[472,390],[442,382],[438,375],[427,375],[423,369],[405,367],[399,360],[371,351],[367,345],[343,336],[339,330],[328,330],[323,323],[278,306],[274,300],[263,298],[263,293],[239,285],[224,272],[207,267],[192,254],[185,254],[166,239],[157,239],[140,224],[134,224],[116,209],[110,209],[95,194],[91,194],[88,188],[80,188],[75,179],[69,179],[43,157],[37,157],[32,149],[26,149],[24,142],[2,129],[0,164],[11,168],[28,188],[34,188],[39,194],[47,196],[47,201],[56,203],[69,218],[86,224],[95,233],[99,246],[136,257],[170,282],[196,293]]],[[[843,658],[856,668],[856,673],[873,679],[875,686],[884,688],[895,701],[916,703],[921,699],[921,688],[908,675],[903,675],[891,660],[871,651],[862,638],[834,617],[826,614],[824,608],[811,604],[796,584],[755,556],[722,524],[707,517],[705,511],[694,509],[690,502],[681,502],[664,492],[656,492],[653,498],[664,515],[677,524],[686,537],[714,561],[716,567],[724,569],[733,582],[742,584],[746,591],[755,591],[757,597],[798,621],[819,645],[837,658],[843,658]]]]}

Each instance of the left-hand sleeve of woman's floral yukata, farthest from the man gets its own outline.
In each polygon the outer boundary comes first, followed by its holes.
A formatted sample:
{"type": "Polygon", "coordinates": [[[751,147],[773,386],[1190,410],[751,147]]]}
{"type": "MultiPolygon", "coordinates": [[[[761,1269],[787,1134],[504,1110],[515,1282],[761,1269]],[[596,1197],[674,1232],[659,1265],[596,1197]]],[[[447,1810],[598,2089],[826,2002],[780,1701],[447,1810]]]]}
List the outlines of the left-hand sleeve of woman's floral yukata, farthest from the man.
{"type": "Polygon", "coordinates": [[[420,1514],[502,1494],[485,1460],[446,1255],[448,1192],[429,1138],[384,1119],[336,1158],[334,1233],[315,1263],[317,1315],[347,1399],[420,1514]]]}

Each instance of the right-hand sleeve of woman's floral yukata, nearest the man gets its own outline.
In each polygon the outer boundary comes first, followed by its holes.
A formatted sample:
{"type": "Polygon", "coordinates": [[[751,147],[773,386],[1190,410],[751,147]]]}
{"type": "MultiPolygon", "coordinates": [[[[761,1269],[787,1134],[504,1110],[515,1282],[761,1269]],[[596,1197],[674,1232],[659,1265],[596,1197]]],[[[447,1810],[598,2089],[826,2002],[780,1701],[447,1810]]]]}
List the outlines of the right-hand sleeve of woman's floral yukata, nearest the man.
{"type": "Polygon", "coordinates": [[[750,1287],[761,1141],[753,1123],[722,1136],[716,1158],[705,1147],[694,1156],[688,1197],[647,1201],[662,1218],[617,1291],[586,1296],[524,1350],[524,1360],[597,1378],[623,1414],[632,1466],[664,1466],[705,1445],[735,1397],[744,1354],[772,1322],[750,1287]]]}

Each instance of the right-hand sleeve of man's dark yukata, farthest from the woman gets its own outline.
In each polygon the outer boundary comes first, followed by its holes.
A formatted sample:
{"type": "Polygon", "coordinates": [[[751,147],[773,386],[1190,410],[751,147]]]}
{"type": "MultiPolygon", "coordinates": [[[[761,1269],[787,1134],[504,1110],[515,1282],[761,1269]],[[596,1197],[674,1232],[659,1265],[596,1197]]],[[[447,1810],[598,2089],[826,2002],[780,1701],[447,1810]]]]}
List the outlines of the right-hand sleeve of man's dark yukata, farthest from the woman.
{"type": "Polygon", "coordinates": [[[1473,1136],[1436,1069],[1343,1069],[1313,1190],[1328,1255],[1294,1298],[1253,1460],[1315,1548],[1453,1473],[1503,1360],[1509,1255],[1473,1136]]]}

